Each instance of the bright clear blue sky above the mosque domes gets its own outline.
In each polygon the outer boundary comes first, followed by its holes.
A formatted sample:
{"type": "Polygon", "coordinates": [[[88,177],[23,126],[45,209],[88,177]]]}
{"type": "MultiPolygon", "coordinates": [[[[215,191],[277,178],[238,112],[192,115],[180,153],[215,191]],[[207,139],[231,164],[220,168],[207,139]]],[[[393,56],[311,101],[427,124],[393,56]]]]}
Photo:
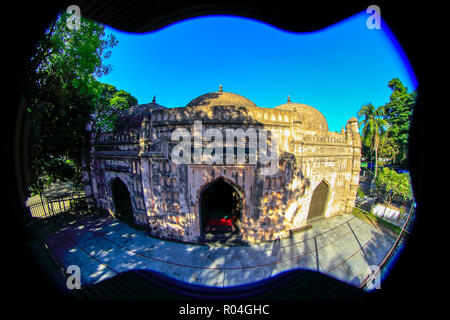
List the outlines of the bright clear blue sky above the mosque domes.
{"type": "Polygon", "coordinates": [[[223,90],[260,107],[287,101],[318,109],[339,131],[361,105],[389,100],[389,80],[410,91],[417,80],[388,26],[368,29],[365,11],[312,33],[291,33],[236,16],[184,20],[146,34],[110,27],[119,41],[104,62],[112,72],[98,80],[148,103],[183,107],[223,90]]]}

